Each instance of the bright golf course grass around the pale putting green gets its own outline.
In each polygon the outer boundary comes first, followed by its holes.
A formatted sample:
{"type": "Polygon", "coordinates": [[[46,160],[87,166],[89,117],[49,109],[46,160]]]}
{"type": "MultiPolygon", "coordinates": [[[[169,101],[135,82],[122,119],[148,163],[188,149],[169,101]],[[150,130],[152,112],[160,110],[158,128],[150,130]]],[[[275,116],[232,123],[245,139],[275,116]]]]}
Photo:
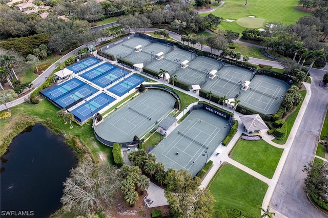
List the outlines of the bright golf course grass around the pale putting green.
{"type": "MultiPolygon", "coordinates": [[[[212,14],[223,17],[224,19],[235,19],[233,22],[223,21],[219,28],[232,30],[241,33],[245,27],[239,26],[237,20],[248,16],[264,19],[263,25],[269,22],[280,21],[283,24],[294,24],[298,18],[310,15],[311,13],[303,12],[295,8],[298,0],[248,0],[245,6],[245,0],[226,0],[224,7],[218,8],[212,14]]],[[[209,13],[202,13],[206,16],[209,13]]]]}

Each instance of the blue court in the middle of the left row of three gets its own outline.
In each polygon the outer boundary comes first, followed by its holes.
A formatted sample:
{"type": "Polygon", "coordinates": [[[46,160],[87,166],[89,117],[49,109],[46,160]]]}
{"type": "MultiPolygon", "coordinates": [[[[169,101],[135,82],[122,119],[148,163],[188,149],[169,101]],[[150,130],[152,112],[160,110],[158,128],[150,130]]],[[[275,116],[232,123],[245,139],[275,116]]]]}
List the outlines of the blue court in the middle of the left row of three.
{"type": "Polygon", "coordinates": [[[71,106],[77,104],[83,99],[88,98],[90,95],[96,92],[98,92],[97,89],[93,88],[88,84],[84,84],[80,86],[79,89],[74,90],[73,92],[69,91],[63,97],[60,97],[59,99],[55,100],[55,102],[62,108],[70,108],[71,106]]]}

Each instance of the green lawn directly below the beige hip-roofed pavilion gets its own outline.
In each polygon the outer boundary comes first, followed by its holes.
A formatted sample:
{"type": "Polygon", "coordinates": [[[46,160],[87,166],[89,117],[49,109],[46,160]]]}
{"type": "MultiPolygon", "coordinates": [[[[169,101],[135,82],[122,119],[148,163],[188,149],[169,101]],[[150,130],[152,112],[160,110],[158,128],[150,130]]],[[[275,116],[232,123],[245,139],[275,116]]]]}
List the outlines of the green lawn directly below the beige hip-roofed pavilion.
{"type": "Polygon", "coordinates": [[[240,139],[232,152],[232,159],[271,179],[275,173],[283,149],[264,140],[240,139]]]}

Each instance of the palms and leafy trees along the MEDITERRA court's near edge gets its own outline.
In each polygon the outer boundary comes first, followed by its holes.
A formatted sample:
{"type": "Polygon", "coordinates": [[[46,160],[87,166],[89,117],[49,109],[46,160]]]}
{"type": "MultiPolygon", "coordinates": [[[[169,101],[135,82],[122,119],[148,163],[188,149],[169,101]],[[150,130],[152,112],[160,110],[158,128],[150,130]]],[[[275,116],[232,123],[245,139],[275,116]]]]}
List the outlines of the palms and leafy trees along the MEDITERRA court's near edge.
{"type": "MultiPolygon", "coordinates": [[[[156,157],[147,154],[144,149],[132,151],[129,154],[129,160],[133,162],[135,167],[133,175],[137,176],[140,171],[146,173],[151,178],[155,178],[161,185],[166,184],[165,197],[168,199],[172,212],[177,217],[208,217],[213,212],[214,198],[208,189],[199,189],[200,179],[192,178],[187,170],[168,169],[165,171],[162,163],[156,163],[156,157]]],[[[129,173],[133,167],[124,166],[121,168],[121,175],[129,177],[129,173]]],[[[135,176],[134,180],[139,181],[135,176]]],[[[121,191],[129,190],[134,192],[140,184],[145,184],[146,179],[138,185],[133,182],[122,182],[121,191]],[[130,184],[130,185],[127,185],[130,184]]],[[[148,184],[148,183],[147,183],[148,184]]],[[[142,186],[143,188],[145,187],[142,186]]],[[[136,196],[136,194],[135,194],[136,196]]]]}

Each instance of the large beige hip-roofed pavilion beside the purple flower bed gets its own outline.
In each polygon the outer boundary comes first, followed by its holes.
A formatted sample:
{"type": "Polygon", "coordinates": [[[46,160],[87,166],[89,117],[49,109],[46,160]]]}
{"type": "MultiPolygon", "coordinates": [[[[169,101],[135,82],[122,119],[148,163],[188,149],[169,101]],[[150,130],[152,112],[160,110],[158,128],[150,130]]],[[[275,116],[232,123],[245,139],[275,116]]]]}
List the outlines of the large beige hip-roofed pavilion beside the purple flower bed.
{"type": "Polygon", "coordinates": [[[239,116],[239,118],[247,133],[259,133],[262,129],[269,129],[258,114],[239,116]]]}

